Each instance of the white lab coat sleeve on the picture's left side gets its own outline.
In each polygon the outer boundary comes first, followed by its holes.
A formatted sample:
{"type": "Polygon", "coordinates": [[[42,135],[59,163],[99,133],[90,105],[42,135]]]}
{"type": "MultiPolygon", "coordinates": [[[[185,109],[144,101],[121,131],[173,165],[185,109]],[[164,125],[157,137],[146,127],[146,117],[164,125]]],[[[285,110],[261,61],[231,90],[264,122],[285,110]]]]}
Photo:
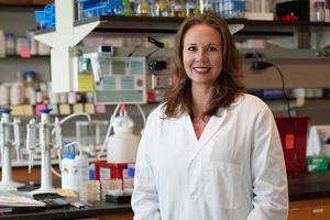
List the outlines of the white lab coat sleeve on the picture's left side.
{"type": "Polygon", "coordinates": [[[160,220],[158,195],[155,176],[151,165],[150,150],[154,143],[151,124],[147,121],[138,148],[132,209],[134,220],[160,220]]]}

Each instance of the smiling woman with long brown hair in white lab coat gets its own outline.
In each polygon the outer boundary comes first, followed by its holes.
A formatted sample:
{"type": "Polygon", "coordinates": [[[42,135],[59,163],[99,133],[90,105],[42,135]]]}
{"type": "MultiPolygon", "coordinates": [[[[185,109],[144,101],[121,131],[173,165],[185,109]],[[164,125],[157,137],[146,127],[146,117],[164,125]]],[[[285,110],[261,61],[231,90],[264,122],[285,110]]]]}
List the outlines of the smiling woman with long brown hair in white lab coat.
{"type": "Polygon", "coordinates": [[[233,38],[215,13],[184,21],[174,86],[147,119],[135,220],[285,220],[287,179],[267,106],[245,95],[233,38]]]}

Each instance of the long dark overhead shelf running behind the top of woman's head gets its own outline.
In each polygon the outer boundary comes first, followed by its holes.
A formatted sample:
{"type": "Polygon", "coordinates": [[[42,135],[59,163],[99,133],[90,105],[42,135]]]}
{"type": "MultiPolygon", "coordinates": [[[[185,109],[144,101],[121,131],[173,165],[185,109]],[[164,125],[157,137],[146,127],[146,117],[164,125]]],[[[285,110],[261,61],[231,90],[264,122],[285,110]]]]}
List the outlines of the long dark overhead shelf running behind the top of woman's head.
{"type": "MultiPolygon", "coordinates": [[[[94,33],[163,33],[174,34],[184,21],[183,18],[164,16],[98,16],[75,21],[75,26],[99,21],[100,24],[94,33]]],[[[297,32],[330,31],[330,22],[282,22],[282,21],[258,21],[244,19],[226,20],[229,25],[243,25],[237,32],[237,36],[293,36],[297,32]]],[[[52,32],[42,30],[37,34],[52,32]]]]}

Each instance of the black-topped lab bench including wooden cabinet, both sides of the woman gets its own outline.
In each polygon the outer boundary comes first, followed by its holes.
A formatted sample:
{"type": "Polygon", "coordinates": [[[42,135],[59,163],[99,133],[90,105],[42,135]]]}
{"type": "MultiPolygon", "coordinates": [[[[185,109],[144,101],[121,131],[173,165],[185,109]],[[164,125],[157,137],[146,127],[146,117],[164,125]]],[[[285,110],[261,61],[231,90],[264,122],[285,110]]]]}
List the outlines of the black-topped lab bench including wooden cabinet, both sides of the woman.
{"type": "MultiPolygon", "coordinates": [[[[288,175],[289,218],[288,220],[330,219],[330,170],[288,175]]],[[[25,210],[23,213],[0,216],[0,219],[116,219],[131,220],[130,205],[91,202],[91,207],[25,210]]]]}

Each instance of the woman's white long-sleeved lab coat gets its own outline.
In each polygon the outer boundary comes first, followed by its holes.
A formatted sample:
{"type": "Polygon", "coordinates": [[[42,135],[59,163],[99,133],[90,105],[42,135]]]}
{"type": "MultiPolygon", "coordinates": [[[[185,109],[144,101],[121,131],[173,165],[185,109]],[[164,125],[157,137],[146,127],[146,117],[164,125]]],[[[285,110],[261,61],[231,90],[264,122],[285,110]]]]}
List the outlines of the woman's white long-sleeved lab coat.
{"type": "Polygon", "coordinates": [[[190,117],[148,117],[138,150],[134,220],[286,220],[279,134],[268,107],[244,95],[197,140],[190,117]]]}

